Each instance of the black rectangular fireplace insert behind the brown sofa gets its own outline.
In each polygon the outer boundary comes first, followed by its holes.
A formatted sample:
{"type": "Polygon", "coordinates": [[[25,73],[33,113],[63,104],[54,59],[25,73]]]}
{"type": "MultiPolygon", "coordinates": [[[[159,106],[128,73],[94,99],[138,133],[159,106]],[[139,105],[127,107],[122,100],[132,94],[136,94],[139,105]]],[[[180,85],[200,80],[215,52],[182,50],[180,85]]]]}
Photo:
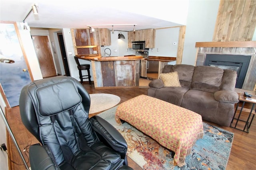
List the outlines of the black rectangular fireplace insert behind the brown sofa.
{"type": "Polygon", "coordinates": [[[242,88],[250,59],[250,55],[206,54],[204,65],[235,70],[236,88],[242,88]]]}

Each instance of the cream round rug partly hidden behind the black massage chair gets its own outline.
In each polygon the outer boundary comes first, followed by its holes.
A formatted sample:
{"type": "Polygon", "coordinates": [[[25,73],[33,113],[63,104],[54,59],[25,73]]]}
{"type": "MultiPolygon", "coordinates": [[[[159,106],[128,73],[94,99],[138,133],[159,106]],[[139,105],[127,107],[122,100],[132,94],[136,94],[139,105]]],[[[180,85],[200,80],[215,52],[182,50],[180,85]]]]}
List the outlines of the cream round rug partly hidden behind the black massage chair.
{"type": "Polygon", "coordinates": [[[89,114],[110,109],[120,102],[120,97],[114,94],[98,93],[90,94],[91,105],[89,114]]]}

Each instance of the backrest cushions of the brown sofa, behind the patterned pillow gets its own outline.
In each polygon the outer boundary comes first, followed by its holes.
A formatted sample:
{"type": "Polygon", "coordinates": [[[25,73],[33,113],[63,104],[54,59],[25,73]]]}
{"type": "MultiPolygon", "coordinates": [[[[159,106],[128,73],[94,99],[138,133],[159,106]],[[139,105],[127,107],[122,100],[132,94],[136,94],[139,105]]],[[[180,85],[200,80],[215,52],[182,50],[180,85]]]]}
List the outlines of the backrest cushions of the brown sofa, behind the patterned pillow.
{"type": "Polygon", "coordinates": [[[212,66],[192,66],[187,64],[165,65],[163,73],[178,72],[180,85],[193,90],[217,92],[232,90],[236,86],[236,71],[223,70],[212,66]]]}

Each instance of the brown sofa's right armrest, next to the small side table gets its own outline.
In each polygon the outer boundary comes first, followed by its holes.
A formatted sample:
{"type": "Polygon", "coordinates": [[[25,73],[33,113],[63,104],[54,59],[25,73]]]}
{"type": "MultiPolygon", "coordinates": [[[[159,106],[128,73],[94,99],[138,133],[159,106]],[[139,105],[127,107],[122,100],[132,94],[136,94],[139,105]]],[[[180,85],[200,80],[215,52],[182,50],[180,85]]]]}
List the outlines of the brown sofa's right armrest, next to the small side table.
{"type": "Polygon", "coordinates": [[[239,95],[235,91],[220,90],[214,93],[214,99],[218,102],[235,104],[239,102],[239,95]]]}

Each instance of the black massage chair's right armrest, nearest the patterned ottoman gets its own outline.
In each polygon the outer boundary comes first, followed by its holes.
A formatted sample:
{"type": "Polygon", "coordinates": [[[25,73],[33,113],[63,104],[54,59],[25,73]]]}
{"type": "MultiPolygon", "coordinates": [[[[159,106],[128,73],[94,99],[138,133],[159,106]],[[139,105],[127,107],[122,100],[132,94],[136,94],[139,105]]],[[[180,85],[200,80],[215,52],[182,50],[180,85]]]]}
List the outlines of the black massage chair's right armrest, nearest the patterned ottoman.
{"type": "Polygon", "coordinates": [[[116,150],[121,158],[126,160],[127,143],[124,137],[110,123],[97,115],[89,120],[100,141],[116,150]]]}

